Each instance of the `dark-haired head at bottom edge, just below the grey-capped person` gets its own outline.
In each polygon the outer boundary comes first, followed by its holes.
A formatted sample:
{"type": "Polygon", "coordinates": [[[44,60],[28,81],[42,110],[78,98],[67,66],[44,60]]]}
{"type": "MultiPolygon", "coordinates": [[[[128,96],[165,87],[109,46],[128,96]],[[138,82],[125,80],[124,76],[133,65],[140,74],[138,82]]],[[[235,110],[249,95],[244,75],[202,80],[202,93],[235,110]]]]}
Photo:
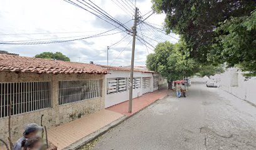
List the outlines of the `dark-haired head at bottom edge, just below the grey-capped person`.
{"type": "Polygon", "coordinates": [[[21,143],[23,150],[39,150],[41,148],[41,139],[36,136],[30,139],[24,139],[21,143]]]}

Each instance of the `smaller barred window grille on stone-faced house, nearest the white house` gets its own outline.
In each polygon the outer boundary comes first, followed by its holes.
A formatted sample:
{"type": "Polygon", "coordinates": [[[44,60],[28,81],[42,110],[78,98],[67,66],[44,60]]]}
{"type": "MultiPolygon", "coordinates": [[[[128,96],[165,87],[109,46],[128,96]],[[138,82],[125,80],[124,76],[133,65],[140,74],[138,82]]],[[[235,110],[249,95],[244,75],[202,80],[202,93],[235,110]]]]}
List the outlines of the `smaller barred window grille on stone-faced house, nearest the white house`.
{"type": "Polygon", "coordinates": [[[58,103],[68,104],[101,96],[101,80],[59,81],[58,103]]]}

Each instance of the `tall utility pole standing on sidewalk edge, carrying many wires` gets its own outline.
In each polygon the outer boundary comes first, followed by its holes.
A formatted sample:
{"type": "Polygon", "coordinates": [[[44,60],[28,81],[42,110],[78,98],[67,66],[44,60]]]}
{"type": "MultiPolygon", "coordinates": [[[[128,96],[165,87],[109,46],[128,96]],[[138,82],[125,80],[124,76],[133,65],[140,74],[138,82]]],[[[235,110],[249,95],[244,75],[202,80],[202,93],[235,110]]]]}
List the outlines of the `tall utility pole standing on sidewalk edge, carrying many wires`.
{"type": "Polygon", "coordinates": [[[134,50],[135,50],[135,40],[136,40],[136,27],[137,27],[137,11],[138,8],[135,9],[134,16],[134,26],[132,27],[132,59],[131,59],[131,77],[130,77],[130,89],[129,89],[129,113],[132,113],[132,86],[133,86],[133,72],[134,72],[134,50]]]}

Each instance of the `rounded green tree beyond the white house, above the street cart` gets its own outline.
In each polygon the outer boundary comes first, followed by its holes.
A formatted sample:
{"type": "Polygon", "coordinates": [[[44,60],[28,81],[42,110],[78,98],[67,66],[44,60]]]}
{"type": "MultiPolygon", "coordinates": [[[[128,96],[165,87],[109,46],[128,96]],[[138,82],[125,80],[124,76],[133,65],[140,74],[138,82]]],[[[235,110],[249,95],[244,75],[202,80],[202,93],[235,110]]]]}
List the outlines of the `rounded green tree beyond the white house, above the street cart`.
{"type": "Polygon", "coordinates": [[[196,62],[186,58],[181,53],[183,45],[171,44],[171,42],[159,43],[154,53],[147,56],[146,65],[149,70],[157,71],[168,80],[168,88],[172,89],[171,83],[174,80],[182,79],[184,76],[191,76],[195,73],[196,62]],[[193,71],[193,69],[195,69],[193,71]]]}

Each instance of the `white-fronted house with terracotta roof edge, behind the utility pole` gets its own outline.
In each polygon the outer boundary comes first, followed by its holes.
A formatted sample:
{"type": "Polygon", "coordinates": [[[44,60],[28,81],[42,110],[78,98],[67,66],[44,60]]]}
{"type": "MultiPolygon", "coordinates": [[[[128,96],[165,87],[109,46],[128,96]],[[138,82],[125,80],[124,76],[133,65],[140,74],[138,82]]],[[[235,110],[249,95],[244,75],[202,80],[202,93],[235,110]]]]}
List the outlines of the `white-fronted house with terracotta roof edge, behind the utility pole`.
{"type": "MultiPolygon", "coordinates": [[[[107,69],[105,75],[105,108],[129,100],[130,69],[116,66],[99,65],[107,69]]],[[[167,81],[160,74],[146,69],[134,69],[132,98],[157,89],[167,89],[167,81]],[[159,84],[159,81],[161,84],[159,84]],[[166,82],[164,82],[166,81],[166,82]]]]}

